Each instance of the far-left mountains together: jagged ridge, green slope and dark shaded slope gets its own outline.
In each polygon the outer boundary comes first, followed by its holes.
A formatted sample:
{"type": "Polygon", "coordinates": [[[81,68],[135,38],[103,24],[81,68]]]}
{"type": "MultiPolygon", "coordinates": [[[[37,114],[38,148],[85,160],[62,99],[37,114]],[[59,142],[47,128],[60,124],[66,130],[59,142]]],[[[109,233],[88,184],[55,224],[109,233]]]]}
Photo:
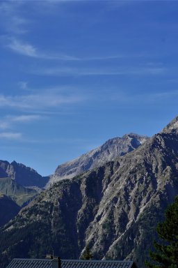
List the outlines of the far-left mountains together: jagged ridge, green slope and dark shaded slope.
{"type": "Polygon", "coordinates": [[[0,226],[38,195],[48,180],[23,164],[0,161],[0,226]]]}

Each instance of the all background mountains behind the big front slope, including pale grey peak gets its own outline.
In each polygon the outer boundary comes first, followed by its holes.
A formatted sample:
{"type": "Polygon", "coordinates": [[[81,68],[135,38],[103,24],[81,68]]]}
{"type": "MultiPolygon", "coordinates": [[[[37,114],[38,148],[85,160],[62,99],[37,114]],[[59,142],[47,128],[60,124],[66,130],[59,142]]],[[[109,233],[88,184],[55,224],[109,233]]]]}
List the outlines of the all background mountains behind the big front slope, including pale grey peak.
{"type": "MultiPolygon", "coordinates": [[[[55,181],[72,178],[76,174],[106,163],[107,160],[112,160],[116,156],[127,154],[147,139],[148,137],[146,136],[133,133],[123,137],[115,137],[105,142],[101,147],[74,159],[74,161],[59,165],[54,175],[47,177],[42,177],[33,168],[26,167],[22,163],[17,163],[16,161],[9,163],[1,160],[0,193],[6,195],[6,198],[1,202],[2,210],[6,211],[6,207],[9,207],[13,202],[20,209],[28,204],[35,195],[38,195],[42,189],[49,188],[55,181]],[[10,199],[11,202],[9,202],[10,199]]],[[[6,221],[4,217],[0,218],[0,226],[13,218],[19,209],[13,209],[12,207],[12,213],[9,209],[10,213],[9,216],[6,216],[6,221]]]]}

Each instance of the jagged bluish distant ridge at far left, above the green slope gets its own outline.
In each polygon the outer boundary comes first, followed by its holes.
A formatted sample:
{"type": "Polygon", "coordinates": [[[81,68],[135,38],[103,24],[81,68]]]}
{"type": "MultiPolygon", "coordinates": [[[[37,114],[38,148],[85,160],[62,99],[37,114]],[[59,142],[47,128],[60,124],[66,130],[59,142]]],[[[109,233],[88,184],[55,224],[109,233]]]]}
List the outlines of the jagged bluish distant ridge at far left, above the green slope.
{"type": "Polygon", "coordinates": [[[33,168],[26,167],[21,163],[13,161],[0,161],[0,178],[10,177],[22,186],[38,186],[43,188],[47,184],[49,177],[42,177],[33,168]]]}

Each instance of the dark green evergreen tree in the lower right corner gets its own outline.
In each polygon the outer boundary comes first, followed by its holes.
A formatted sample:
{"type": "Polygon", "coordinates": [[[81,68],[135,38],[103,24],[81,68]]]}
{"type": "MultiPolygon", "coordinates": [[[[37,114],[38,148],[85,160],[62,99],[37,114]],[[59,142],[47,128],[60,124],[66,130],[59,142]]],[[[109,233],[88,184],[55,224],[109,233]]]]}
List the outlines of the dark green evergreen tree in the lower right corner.
{"type": "Polygon", "coordinates": [[[148,268],[178,268],[178,197],[165,211],[165,221],[157,226],[159,241],[154,241],[155,251],[149,253],[148,268]]]}

